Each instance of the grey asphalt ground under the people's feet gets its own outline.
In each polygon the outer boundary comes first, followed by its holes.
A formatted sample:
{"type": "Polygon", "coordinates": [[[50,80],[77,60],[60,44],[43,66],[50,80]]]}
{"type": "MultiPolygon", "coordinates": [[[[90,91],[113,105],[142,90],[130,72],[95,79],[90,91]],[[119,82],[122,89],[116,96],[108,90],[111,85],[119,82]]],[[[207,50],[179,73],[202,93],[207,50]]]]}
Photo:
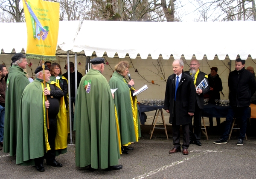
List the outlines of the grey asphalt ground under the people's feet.
{"type": "MultiPolygon", "coordinates": [[[[222,126],[223,127],[223,126],[222,126]]],[[[202,135],[202,146],[191,144],[189,155],[181,152],[169,154],[172,149],[172,130],[167,126],[169,140],[163,129],[155,129],[149,139],[150,125],[142,125],[142,137],[131,145],[133,151],[122,154],[121,170],[90,172],[87,167],[75,165],[75,145],[68,145],[68,152],[57,156],[62,168],[46,165],[44,172],[35,166],[15,164],[15,156],[0,151],[0,179],[255,179],[256,178],[256,126],[249,126],[248,140],[236,145],[238,131],[234,131],[227,144],[213,144],[220,136],[217,128],[208,130],[209,140],[202,135]]],[[[220,129],[221,130],[221,129],[220,129]]],[[[182,144],[182,140],[180,141],[182,144]]]]}

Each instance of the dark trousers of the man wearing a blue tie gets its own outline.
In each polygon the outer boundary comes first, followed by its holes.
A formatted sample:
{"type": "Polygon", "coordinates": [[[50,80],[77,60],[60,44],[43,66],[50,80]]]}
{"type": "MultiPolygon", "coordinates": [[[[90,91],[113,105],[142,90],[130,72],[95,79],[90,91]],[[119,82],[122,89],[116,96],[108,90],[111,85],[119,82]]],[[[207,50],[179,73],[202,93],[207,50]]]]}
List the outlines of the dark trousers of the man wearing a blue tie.
{"type": "MultiPolygon", "coordinates": [[[[176,125],[176,114],[175,114],[175,104],[174,104],[174,118],[172,120],[172,144],[175,148],[180,149],[180,125],[176,125]]],[[[189,148],[189,124],[181,125],[183,132],[183,144],[182,148],[189,148]]]]}

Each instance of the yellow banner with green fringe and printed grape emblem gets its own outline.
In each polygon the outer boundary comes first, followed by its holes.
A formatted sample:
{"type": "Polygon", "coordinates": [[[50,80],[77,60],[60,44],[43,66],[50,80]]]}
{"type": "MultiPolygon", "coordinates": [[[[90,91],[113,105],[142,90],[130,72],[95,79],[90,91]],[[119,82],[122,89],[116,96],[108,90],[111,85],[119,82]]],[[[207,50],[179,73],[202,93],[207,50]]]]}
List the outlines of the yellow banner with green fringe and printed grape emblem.
{"type": "Polygon", "coordinates": [[[59,28],[59,3],[23,0],[28,43],[27,58],[56,60],[59,28]]]}

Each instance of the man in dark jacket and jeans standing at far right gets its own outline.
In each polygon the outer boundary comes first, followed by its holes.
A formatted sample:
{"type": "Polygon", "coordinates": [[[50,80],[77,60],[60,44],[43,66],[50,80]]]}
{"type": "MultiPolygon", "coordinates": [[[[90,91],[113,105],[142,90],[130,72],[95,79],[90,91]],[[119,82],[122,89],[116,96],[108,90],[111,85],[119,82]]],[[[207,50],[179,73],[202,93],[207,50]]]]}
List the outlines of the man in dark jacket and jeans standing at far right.
{"type": "Polygon", "coordinates": [[[244,136],[247,125],[247,112],[250,105],[250,98],[256,91],[256,82],[253,74],[244,68],[245,60],[236,59],[236,70],[228,76],[228,87],[230,89],[230,108],[226,117],[226,125],[221,138],[213,142],[215,144],[226,144],[230,133],[233,117],[241,119],[240,136],[236,145],[244,144],[244,136]]]}

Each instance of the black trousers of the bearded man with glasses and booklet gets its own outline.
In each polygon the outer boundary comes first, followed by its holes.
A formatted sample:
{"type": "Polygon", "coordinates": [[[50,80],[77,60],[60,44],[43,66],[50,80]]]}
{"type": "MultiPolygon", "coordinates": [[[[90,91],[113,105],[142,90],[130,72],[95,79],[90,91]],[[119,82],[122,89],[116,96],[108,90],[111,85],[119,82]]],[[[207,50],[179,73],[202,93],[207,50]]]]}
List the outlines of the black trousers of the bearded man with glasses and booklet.
{"type": "Polygon", "coordinates": [[[192,141],[199,141],[201,139],[201,120],[202,120],[202,109],[195,103],[194,113],[194,125],[192,125],[193,116],[191,116],[191,122],[189,123],[189,139],[192,141]]]}

